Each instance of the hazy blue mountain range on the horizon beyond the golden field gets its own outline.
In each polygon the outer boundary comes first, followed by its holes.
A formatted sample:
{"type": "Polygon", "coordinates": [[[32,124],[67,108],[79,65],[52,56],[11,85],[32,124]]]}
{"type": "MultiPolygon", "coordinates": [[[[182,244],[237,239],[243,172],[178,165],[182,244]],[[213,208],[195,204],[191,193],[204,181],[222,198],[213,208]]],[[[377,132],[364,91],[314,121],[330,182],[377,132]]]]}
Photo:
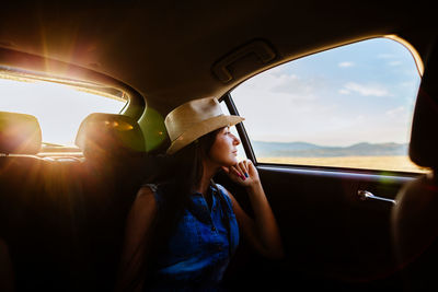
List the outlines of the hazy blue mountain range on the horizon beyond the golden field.
{"type": "Polygon", "coordinates": [[[396,156],[407,154],[407,143],[357,143],[349,147],[323,147],[307,142],[253,141],[257,156],[265,157],[335,157],[335,156],[396,156]]]}

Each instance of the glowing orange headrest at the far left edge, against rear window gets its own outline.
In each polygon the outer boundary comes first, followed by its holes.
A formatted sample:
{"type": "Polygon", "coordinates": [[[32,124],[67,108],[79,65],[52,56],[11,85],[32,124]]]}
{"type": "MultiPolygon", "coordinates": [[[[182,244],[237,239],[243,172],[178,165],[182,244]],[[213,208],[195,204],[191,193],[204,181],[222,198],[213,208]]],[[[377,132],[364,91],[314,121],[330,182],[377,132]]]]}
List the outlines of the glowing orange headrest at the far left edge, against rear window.
{"type": "Polygon", "coordinates": [[[42,147],[42,131],[36,117],[0,112],[0,153],[36,154],[42,147]]]}

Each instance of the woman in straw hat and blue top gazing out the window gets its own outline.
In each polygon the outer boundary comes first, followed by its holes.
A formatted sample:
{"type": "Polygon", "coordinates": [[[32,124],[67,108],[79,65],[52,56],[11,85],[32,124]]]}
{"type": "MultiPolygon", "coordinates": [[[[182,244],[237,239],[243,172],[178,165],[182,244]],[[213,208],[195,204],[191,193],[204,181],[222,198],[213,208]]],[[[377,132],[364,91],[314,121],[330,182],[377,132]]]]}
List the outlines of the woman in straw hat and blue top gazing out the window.
{"type": "Polygon", "coordinates": [[[196,100],[165,118],[171,138],[165,176],[138,191],[127,219],[118,290],[215,289],[239,242],[278,258],[278,227],[251,161],[238,162],[239,139],[215,97],[196,100]],[[245,187],[254,220],[211,178],[223,170],[245,187]],[[146,277],[146,273],[148,277],[146,277]]]}

